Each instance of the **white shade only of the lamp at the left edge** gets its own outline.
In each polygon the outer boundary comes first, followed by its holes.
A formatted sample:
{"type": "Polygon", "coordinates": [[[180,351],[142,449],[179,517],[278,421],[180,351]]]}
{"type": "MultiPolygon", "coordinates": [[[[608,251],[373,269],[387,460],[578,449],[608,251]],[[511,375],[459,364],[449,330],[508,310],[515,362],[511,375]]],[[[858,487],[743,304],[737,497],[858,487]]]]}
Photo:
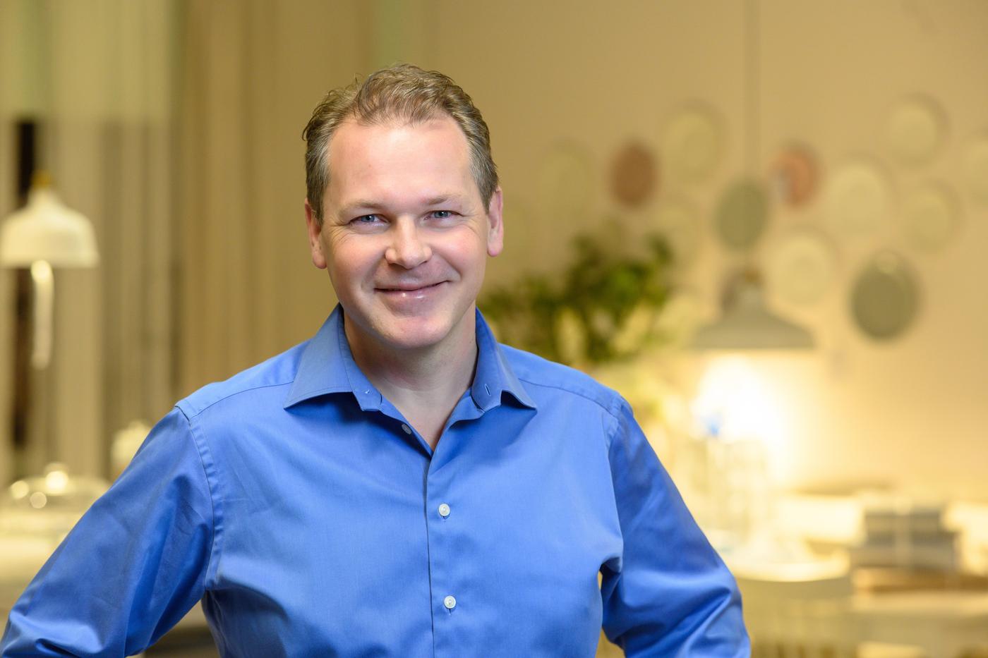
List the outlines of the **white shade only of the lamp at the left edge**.
{"type": "Polygon", "coordinates": [[[62,204],[49,187],[32,188],[28,205],[0,227],[0,266],[27,268],[47,261],[56,268],[91,268],[99,260],[92,222],[62,204]]]}

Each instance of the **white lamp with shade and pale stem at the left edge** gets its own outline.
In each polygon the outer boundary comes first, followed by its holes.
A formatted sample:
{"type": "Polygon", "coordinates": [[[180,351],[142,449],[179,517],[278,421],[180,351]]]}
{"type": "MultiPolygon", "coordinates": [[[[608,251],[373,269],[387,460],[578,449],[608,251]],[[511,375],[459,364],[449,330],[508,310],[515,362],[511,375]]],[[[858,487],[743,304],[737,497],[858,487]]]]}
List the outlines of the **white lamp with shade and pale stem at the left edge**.
{"type": "Polygon", "coordinates": [[[28,204],[0,226],[0,267],[30,268],[35,285],[35,340],[32,366],[51,359],[54,278],[51,268],[91,268],[99,263],[92,222],[65,206],[46,172],[36,172],[28,204]]]}

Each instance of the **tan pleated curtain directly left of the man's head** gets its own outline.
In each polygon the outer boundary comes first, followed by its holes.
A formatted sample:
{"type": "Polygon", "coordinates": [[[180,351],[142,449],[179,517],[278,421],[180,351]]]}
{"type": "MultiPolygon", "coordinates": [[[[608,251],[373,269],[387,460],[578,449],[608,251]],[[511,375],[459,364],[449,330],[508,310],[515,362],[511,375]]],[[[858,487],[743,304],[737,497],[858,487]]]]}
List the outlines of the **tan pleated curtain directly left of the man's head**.
{"type": "Polygon", "coordinates": [[[179,393],[309,338],[332,309],[311,264],[301,131],[367,72],[354,0],[190,2],[183,17],[179,393]]]}

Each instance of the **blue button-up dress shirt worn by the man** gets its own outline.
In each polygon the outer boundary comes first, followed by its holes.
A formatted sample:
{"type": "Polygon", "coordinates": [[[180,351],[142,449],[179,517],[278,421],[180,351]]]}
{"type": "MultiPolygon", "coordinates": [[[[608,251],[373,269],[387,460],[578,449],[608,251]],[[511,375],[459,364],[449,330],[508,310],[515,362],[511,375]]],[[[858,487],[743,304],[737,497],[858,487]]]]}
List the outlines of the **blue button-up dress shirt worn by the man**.
{"type": "Polygon", "coordinates": [[[731,574],[626,402],[499,346],[435,452],[316,336],[179,402],[45,563],[3,656],[741,656],[731,574]],[[603,581],[599,584],[598,573],[603,581]]]}

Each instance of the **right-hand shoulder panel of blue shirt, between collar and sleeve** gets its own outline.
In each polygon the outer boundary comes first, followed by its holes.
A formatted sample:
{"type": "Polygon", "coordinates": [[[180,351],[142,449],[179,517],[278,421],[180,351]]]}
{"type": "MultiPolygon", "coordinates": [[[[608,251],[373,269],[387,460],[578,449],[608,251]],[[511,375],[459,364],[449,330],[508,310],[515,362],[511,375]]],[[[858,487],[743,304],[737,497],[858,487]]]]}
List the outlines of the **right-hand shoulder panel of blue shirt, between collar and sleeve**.
{"type": "Polygon", "coordinates": [[[499,347],[515,376],[533,396],[546,396],[550,402],[559,398],[582,398],[617,415],[623,402],[620,395],[586,372],[509,345],[499,344],[499,347]]]}

